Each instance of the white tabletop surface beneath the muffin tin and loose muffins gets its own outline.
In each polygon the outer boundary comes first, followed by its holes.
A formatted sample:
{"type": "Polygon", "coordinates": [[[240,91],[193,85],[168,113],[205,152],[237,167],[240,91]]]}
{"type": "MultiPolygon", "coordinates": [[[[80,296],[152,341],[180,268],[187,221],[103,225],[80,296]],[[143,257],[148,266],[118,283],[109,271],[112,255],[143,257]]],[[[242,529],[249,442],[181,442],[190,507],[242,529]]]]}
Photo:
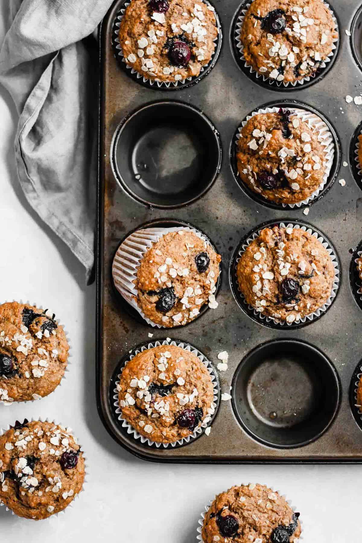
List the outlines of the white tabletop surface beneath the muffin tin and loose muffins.
{"type": "Polygon", "coordinates": [[[81,265],[37,218],[18,186],[12,151],[17,117],[4,89],[0,119],[0,301],[50,307],[66,324],[73,349],[67,381],[41,401],[0,405],[0,427],[24,417],[62,422],[78,435],[90,466],[85,492],[63,515],[34,522],[0,508],[1,540],[189,543],[204,504],[250,481],[291,498],[307,543],[360,541],[362,466],[158,465],[136,459],[109,437],[96,408],[95,288],[84,286],[81,265]]]}

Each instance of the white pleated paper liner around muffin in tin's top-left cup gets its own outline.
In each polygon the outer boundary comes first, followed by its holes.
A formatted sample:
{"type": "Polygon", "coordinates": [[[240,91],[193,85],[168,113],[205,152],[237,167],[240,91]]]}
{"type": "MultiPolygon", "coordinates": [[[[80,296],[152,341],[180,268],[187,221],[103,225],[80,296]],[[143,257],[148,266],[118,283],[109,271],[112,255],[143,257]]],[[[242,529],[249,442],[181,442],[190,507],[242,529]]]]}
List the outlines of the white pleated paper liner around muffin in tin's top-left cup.
{"type": "MultiPolygon", "coordinates": [[[[201,1],[204,2],[204,0],[201,0],[201,1]]],[[[206,3],[206,2],[204,2],[204,3],[206,3]]],[[[204,66],[201,66],[201,70],[200,70],[199,75],[193,75],[191,77],[187,77],[186,79],[180,79],[180,81],[156,81],[154,79],[150,79],[145,74],[141,74],[141,73],[137,72],[137,70],[135,70],[135,68],[132,65],[127,64],[127,61],[126,61],[126,59],[124,58],[124,55],[123,55],[122,47],[120,46],[120,43],[119,43],[118,33],[119,33],[120,22],[122,21],[122,18],[124,16],[124,12],[125,12],[126,8],[128,8],[128,6],[130,5],[130,2],[125,2],[123,5],[124,5],[124,7],[119,10],[118,15],[116,17],[116,20],[113,23],[112,41],[115,44],[116,58],[118,58],[118,60],[120,62],[124,63],[125,67],[127,68],[127,70],[130,70],[130,73],[132,75],[136,75],[137,79],[141,79],[143,83],[148,83],[151,87],[156,84],[158,89],[160,89],[160,87],[162,87],[162,86],[167,87],[167,89],[169,89],[170,86],[177,87],[177,85],[179,85],[179,84],[185,85],[185,83],[187,83],[187,81],[191,82],[196,78],[202,77],[202,72],[205,72],[205,70],[207,70],[210,62],[212,62],[212,59],[213,59],[213,57],[215,55],[215,52],[217,50],[217,45],[215,45],[213,54],[212,54],[211,59],[209,60],[208,64],[205,64],[204,66]]],[[[216,18],[216,26],[217,26],[217,29],[218,29],[218,36],[215,37],[215,39],[214,39],[214,43],[216,43],[218,40],[222,40],[223,36],[222,36],[222,33],[221,33],[221,26],[220,26],[219,17],[218,17],[218,14],[217,14],[216,10],[214,11],[214,14],[215,14],[215,18],[216,18]]]]}

